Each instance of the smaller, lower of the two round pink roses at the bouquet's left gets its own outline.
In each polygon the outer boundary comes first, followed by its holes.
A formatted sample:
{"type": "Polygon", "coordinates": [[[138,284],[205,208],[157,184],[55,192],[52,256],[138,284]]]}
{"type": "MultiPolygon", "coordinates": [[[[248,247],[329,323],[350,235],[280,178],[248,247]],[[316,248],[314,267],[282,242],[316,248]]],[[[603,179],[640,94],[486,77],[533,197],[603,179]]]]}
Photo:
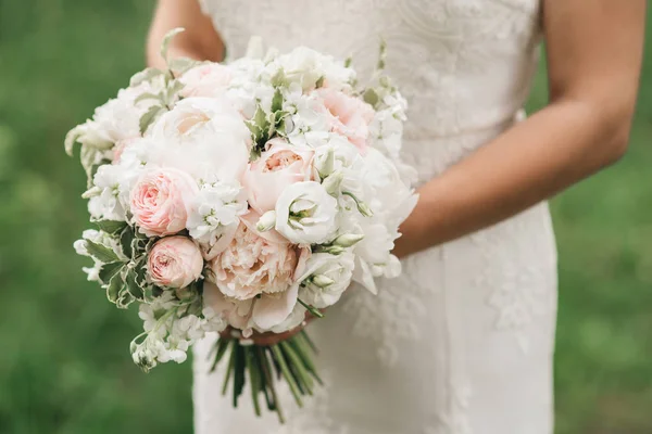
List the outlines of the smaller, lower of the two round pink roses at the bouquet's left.
{"type": "Polygon", "coordinates": [[[165,288],[185,288],[201,277],[203,257],[199,247],[186,237],[167,237],[156,241],[147,258],[150,280],[165,288]]]}

